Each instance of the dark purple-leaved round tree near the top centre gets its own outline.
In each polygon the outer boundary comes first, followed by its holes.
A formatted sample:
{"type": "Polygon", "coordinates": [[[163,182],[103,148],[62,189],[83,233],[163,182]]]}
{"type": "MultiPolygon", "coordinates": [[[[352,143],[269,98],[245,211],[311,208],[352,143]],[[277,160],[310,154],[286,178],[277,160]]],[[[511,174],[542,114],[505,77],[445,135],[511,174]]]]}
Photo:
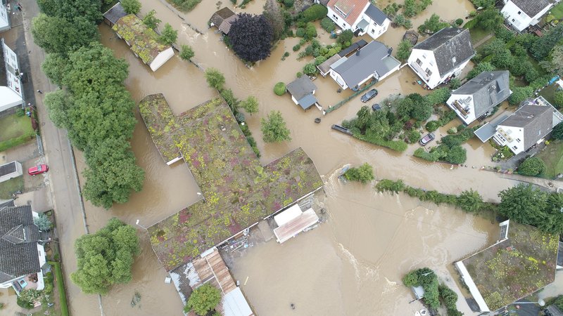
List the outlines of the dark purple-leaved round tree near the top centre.
{"type": "Polygon", "coordinates": [[[270,56],[273,33],[264,15],[241,13],[229,30],[229,42],[240,58],[256,62],[270,56]]]}

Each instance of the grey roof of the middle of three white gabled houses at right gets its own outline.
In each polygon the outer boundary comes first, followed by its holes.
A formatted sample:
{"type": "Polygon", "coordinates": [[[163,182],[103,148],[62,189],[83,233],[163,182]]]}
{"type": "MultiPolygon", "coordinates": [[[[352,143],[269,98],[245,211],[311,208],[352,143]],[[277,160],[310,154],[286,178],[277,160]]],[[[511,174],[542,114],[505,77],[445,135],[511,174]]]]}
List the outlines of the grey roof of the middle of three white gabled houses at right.
{"type": "Polygon", "coordinates": [[[481,117],[488,110],[506,100],[510,96],[509,72],[481,72],[477,77],[460,86],[453,95],[472,95],[475,117],[481,117]]]}

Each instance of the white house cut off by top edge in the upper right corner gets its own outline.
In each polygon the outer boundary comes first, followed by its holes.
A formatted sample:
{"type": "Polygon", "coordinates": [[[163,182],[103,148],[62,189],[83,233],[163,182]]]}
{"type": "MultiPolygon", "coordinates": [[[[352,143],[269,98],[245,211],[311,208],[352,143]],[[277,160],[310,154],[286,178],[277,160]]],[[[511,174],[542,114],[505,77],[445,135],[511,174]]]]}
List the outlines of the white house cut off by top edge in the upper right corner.
{"type": "Polygon", "coordinates": [[[553,6],[549,0],[504,0],[505,6],[500,13],[518,32],[530,25],[536,25],[541,17],[553,6]]]}

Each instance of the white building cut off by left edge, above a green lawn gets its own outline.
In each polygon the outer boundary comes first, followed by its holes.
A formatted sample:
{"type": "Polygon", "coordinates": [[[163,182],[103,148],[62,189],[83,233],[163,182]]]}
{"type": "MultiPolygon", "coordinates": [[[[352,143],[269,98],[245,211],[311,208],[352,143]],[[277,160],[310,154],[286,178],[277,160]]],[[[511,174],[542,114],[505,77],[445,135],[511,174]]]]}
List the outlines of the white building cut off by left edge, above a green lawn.
{"type": "Polygon", "coordinates": [[[18,56],[0,39],[0,112],[23,103],[18,56]]]}

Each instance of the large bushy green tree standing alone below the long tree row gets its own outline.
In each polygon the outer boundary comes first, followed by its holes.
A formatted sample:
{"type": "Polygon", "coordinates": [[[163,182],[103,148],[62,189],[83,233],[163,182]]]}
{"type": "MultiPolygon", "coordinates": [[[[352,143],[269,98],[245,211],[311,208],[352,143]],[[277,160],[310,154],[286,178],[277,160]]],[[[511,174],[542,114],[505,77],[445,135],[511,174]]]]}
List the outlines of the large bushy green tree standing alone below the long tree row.
{"type": "Polygon", "coordinates": [[[95,234],[76,240],[78,270],[70,278],[84,293],[106,294],[113,284],[131,281],[134,256],[140,252],[137,230],[112,218],[95,234]]]}

